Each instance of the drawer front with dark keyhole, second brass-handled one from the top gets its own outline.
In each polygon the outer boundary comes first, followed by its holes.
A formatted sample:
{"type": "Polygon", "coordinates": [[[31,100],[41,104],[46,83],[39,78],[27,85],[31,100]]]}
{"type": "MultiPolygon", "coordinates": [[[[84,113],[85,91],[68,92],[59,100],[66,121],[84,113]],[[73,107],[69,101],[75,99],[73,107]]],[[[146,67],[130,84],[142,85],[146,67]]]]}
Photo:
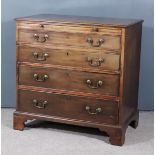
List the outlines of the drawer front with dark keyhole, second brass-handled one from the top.
{"type": "Polygon", "coordinates": [[[119,70],[120,54],[110,51],[84,51],[19,46],[19,61],[97,70],[119,70]]]}

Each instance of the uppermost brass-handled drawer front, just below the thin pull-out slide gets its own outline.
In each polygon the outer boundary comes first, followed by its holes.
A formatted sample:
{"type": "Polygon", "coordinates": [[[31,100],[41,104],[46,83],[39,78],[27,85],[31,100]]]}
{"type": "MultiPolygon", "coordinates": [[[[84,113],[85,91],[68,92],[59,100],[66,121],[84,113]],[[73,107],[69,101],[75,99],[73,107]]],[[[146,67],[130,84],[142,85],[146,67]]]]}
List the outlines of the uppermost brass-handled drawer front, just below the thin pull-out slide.
{"type": "Polygon", "coordinates": [[[17,42],[27,44],[40,44],[51,46],[71,46],[85,49],[120,49],[120,37],[110,35],[97,35],[94,33],[70,33],[55,31],[30,31],[20,29],[17,42]]]}

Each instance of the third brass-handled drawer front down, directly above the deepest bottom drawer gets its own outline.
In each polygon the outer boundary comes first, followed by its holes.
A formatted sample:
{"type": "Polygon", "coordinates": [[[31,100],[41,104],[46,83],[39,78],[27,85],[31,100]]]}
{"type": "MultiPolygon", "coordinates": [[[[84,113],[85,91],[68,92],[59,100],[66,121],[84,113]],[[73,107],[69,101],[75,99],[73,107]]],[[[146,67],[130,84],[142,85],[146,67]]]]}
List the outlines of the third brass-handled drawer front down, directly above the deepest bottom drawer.
{"type": "Polygon", "coordinates": [[[119,76],[21,65],[19,84],[118,96],[119,76]]]}

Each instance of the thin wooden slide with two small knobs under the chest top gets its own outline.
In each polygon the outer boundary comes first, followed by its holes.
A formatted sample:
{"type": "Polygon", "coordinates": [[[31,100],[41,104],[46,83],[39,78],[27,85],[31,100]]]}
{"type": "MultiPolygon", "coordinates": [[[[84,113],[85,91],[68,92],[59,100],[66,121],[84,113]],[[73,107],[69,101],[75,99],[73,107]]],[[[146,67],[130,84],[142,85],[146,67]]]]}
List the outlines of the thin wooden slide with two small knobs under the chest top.
{"type": "Polygon", "coordinates": [[[46,23],[46,22],[17,22],[18,29],[38,30],[38,31],[55,31],[55,32],[72,32],[72,33],[94,33],[120,36],[122,30],[120,28],[104,27],[99,25],[77,25],[64,23],[46,23]]]}

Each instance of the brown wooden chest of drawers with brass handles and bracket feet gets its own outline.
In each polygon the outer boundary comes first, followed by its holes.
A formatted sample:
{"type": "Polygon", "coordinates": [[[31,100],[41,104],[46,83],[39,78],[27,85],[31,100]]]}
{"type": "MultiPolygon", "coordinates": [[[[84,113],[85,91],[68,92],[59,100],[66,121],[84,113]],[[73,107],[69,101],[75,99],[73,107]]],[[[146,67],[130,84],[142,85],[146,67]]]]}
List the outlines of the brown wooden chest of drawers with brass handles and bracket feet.
{"type": "Polygon", "coordinates": [[[122,145],[138,125],[142,20],[16,19],[14,129],[38,119],[98,128],[122,145]]]}

